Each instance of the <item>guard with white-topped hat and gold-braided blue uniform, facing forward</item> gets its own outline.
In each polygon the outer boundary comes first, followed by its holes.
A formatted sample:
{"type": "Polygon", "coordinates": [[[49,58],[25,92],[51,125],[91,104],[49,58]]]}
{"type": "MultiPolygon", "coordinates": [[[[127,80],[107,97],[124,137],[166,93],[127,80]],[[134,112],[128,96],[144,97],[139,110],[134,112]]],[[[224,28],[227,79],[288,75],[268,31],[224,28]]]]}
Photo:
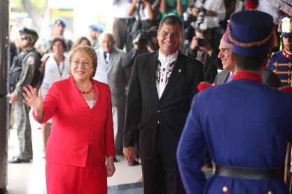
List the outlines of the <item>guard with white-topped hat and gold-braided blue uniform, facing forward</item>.
{"type": "Polygon", "coordinates": [[[292,17],[281,16],[279,30],[283,50],[276,52],[270,59],[268,68],[281,79],[283,86],[291,86],[292,79],[292,17]]]}

